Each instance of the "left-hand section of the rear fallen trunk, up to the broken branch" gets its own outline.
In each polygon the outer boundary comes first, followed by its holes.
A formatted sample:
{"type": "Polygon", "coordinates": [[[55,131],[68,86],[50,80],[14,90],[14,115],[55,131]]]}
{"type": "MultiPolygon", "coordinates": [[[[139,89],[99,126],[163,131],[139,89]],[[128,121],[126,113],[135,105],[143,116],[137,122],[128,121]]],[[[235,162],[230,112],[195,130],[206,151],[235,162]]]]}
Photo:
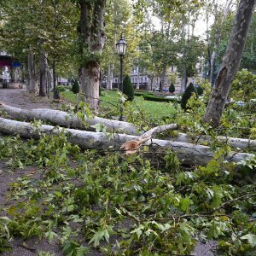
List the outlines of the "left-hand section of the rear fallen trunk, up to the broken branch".
{"type": "Polygon", "coordinates": [[[93,119],[86,118],[84,116],[85,122],[76,114],[67,113],[59,110],[45,109],[45,108],[37,108],[32,110],[14,108],[8,105],[5,105],[3,102],[0,102],[0,111],[5,111],[10,116],[15,119],[41,119],[44,121],[49,121],[55,125],[61,125],[64,127],[73,127],[78,129],[86,129],[86,124],[92,128],[93,125],[103,124],[107,127],[108,131],[116,131],[116,132],[125,132],[131,135],[140,135],[141,133],[137,127],[131,125],[127,122],[111,120],[111,119],[103,119],[99,117],[94,117],[93,119]]]}

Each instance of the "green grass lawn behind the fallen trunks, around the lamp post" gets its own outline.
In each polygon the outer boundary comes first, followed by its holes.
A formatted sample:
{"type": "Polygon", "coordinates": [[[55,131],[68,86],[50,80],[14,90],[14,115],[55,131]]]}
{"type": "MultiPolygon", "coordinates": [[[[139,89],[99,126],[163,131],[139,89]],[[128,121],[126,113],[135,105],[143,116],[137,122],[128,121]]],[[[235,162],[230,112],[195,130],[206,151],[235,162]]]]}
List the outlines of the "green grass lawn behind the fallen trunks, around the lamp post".
{"type": "MultiPolygon", "coordinates": [[[[117,91],[106,90],[103,92],[103,96],[100,96],[101,103],[100,109],[112,111],[115,108],[118,108],[119,96],[117,91]]],[[[77,103],[77,96],[71,91],[61,92],[61,97],[65,98],[67,101],[72,102],[73,104],[77,103]]],[[[135,96],[134,101],[129,104],[131,111],[142,110],[143,113],[148,114],[152,118],[162,118],[170,116],[176,112],[172,103],[169,102],[150,102],[145,101],[143,96],[135,96]]]]}

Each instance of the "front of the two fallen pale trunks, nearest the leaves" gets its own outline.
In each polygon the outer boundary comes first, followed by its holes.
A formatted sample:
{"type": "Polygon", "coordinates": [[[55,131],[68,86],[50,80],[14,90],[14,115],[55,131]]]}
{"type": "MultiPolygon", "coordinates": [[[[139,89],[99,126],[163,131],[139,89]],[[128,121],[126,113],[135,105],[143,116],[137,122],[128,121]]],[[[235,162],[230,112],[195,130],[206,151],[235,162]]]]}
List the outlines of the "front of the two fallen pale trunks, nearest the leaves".
{"type": "MultiPolygon", "coordinates": [[[[2,133],[12,135],[19,134],[20,137],[39,138],[40,133],[59,135],[63,129],[64,128],[54,127],[52,125],[41,125],[36,129],[30,123],[0,118],[0,131],[2,133]]],[[[79,145],[80,148],[107,149],[108,151],[111,150],[111,148],[113,148],[113,150],[119,150],[120,146],[125,142],[139,138],[125,134],[114,134],[113,137],[108,137],[102,132],[73,129],[65,129],[64,132],[68,134],[68,141],[79,145]]],[[[157,149],[166,150],[166,148],[172,148],[172,150],[177,153],[178,159],[182,163],[189,165],[197,164],[205,166],[209,160],[212,160],[213,156],[212,150],[207,146],[158,139],[152,139],[145,144],[148,145],[150,150],[152,149],[154,151],[157,149]]],[[[240,162],[241,160],[253,159],[253,157],[255,157],[255,154],[231,152],[224,160],[240,162]]]]}

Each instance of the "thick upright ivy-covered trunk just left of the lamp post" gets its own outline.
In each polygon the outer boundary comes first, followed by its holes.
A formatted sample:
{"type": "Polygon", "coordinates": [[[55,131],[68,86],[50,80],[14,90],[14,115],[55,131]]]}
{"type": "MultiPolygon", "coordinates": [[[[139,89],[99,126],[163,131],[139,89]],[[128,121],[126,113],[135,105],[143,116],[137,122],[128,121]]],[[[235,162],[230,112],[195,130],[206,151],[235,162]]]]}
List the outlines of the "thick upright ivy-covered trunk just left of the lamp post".
{"type": "Polygon", "coordinates": [[[79,0],[80,20],[79,54],[80,84],[84,102],[90,108],[99,108],[99,88],[102,78],[100,67],[105,37],[105,10],[107,0],[79,0]]]}

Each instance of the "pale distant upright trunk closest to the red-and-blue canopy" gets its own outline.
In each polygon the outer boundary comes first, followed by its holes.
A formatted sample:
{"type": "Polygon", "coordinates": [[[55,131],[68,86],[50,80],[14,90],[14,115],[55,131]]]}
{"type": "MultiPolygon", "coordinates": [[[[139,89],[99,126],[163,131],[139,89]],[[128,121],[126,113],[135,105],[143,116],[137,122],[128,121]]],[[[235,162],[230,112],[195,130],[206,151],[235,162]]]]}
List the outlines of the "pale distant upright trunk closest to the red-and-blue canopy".
{"type": "Polygon", "coordinates": [[[27,56],[27,89],[30,93],[38,92],[38,84],[36,81],[36,72],[34,65],[34,55],[32,50],[29,51],[27,56]]]}

